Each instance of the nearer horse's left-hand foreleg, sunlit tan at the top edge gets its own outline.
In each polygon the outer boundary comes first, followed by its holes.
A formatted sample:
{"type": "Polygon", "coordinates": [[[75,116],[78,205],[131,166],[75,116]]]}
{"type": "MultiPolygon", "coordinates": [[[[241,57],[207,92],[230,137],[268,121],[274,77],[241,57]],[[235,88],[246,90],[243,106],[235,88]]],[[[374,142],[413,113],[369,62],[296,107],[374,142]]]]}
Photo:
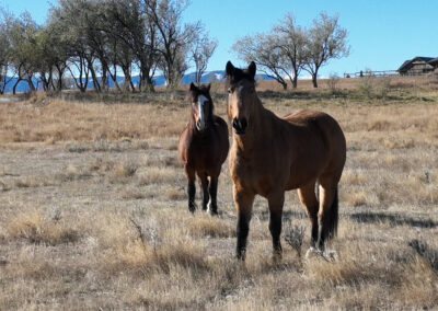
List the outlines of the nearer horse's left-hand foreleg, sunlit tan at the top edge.
{"type": "Polygon", "coordinates": [[[238,191],[233,187],[235,208],[238,209],[238,246],[235,256],[244,261],[246,253],[247,233],[250,232],[251,211],[253,208],[254,194],[238,191]]]}

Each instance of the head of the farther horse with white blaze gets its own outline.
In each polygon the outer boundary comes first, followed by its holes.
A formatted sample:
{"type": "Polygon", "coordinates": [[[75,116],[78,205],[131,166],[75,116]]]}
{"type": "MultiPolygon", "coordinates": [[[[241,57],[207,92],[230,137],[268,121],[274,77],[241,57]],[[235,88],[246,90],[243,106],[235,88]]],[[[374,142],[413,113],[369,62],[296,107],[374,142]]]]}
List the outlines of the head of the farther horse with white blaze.
{"type": "Polygon", "coordinates": [[[211,119],[212,115],[210,84],[198,88],[191,83],[188,92],[192,104],[192,116],[194,117],[196,128],[203,131],[208,127],[208,122],[211,119]]]}

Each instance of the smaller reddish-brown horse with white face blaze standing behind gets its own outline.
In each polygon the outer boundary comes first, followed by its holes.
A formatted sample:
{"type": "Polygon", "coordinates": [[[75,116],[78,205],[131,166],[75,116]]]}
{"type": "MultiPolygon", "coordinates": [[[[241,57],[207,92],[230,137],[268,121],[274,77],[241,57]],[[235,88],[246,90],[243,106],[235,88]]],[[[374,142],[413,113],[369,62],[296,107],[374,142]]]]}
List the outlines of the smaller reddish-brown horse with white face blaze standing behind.
{"type": "Polygon", "coordinates": [[[178,153],[187,176],[188,210],[195,212],[195,175],[203,188],[203,210],[218,214],[217,192],[222,163],[230,143],[228,125],[214,114],[210,84],[197,88],[191,83],[191,119],[180,136],[178,153]]]}

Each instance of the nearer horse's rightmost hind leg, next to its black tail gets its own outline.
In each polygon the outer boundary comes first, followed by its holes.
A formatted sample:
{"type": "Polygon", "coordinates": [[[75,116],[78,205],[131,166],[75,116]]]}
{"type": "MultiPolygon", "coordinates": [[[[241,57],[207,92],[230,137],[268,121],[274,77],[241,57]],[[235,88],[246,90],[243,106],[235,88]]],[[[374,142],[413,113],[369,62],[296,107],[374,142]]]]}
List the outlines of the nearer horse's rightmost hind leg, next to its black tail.
{"type": "Polygon", "coordinates": [[[319,235],[316,246],[324,251],[326,240],[334,238],[338,221],[337,183],[320,181],[319,235]]]}

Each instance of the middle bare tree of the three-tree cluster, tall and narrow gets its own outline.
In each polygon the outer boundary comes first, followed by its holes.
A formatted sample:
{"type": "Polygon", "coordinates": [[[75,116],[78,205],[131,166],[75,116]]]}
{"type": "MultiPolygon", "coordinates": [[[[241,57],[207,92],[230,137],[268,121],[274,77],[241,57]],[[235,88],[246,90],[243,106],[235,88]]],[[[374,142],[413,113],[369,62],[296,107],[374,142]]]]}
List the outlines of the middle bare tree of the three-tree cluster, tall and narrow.
{"type": "Polygon", "coordinates": [[[292,88],[297,88],[298,76],[306,60],[307,32],[298,26],[293,15],[288,13],[274,26],[273,33],[277,35],[277,48],[281,50],[288,62],[287,67],[291,69],[292,88]]]}

